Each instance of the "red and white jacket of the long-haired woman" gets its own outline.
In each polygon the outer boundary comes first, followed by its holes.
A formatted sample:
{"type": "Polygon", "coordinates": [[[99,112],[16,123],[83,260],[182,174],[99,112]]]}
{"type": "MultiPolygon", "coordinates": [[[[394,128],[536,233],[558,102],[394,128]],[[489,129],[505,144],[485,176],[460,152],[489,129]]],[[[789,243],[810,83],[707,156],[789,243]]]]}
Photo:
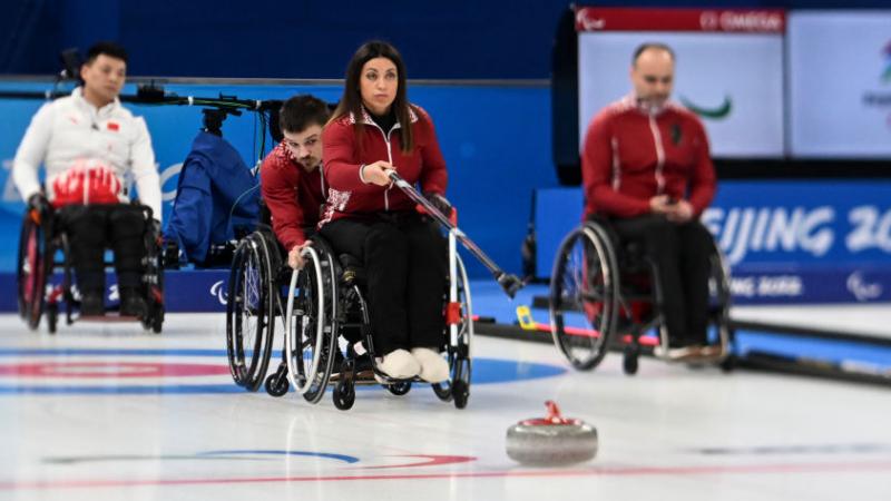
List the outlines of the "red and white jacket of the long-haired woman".
{"type": "Polygon", "coordinates": [[[392,164],[408,183],[420,183],[423,193],[446,195],[449,176],[433,121],[420,107],[411,106],[409,112],[414,149],[408,154],[400,149],[402,125],[395,122],[390,130],[384,131],[364,108],[359,117],[364,125],[361,147],[356,144],[353,131],[356,119],[353,114],[344,115],[325,126],[322,132],[322,158],[329,196],[320,226],[341,217],[414,209],[414,203],[399,188],[366,184],[360,177],[363,165],[379,160],[392,164]]]}

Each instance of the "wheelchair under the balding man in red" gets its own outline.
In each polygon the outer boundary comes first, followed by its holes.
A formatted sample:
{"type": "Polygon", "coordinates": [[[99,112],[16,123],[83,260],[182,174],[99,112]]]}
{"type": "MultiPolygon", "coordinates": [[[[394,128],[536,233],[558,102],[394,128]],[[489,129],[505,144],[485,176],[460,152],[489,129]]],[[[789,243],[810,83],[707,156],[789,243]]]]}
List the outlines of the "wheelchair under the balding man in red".
{"type": "MultiPolygon", "coordinates": [[[[728,371],[734,362],[730,272],[714,239],[712,244],[708,338],[717,354],[698,362],[728,371]]],[[[564,238],[555,258],[548,295],[554,343],[582,371],[596,367],[610,348],[623,352],[623,370],[629,375],[637,372],[645,348],[670,361],[662,294],[655,264],[639,243],[619,243],[606,219],[586,222],[564,238]],[[653,330],[658,333],[655,346],[645,337],[653,330]]]]}

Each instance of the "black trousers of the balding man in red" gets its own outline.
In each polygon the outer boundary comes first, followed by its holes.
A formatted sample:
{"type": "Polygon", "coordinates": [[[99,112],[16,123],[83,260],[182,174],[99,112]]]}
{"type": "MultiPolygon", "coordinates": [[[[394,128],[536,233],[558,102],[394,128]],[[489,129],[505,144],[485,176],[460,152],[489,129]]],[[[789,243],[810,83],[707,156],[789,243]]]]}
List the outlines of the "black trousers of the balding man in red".
{"type": "Polygon", "coordinates": [[[663,314],[672,344],[704,344],[708,328],[712,234],[698,220],[672,223],[647,215],[613,219],[621,239],[644,244],[663,292],[663,314]]]}

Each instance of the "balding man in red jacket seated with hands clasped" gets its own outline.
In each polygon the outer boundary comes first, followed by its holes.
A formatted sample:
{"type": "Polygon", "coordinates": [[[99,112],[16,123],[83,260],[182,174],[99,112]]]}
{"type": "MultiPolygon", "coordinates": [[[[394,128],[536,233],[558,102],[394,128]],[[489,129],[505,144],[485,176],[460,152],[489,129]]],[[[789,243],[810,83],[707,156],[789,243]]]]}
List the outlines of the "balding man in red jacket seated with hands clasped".
{"type": "Polygon", "coordinates": [[[713,356],[707,346],[712,235],[698,222],[715,194],[699,119],[668,97],[674,51],[644,43],[634,53],[634,91],[588,126],[581,153],[585,216],[610,219],[655,264],[670,358],[713,356]]]}

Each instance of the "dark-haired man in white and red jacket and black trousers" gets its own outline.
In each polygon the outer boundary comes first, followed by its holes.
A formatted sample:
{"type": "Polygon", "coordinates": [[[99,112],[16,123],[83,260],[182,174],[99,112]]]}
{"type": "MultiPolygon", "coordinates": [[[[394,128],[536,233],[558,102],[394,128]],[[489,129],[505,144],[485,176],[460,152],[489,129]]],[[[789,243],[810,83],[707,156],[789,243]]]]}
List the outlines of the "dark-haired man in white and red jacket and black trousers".
{"type": "Polygon", "coordinates": [[[115,254],[123,316],[145,316],[143,259],[146,228],[129,205],[128,180],[160,222],[160,184],[145,120],[124,108],[118,95],[127,75],[126,51],[99,42],[80,68],[84,82],[71,96],[43,105],[31,119],[12,176],[31,206],[51,204],[69,234],[84,316],[105,313],[104,249],[115,254]],[[46,190],[38,169],[46,167],[46,190]]]}

